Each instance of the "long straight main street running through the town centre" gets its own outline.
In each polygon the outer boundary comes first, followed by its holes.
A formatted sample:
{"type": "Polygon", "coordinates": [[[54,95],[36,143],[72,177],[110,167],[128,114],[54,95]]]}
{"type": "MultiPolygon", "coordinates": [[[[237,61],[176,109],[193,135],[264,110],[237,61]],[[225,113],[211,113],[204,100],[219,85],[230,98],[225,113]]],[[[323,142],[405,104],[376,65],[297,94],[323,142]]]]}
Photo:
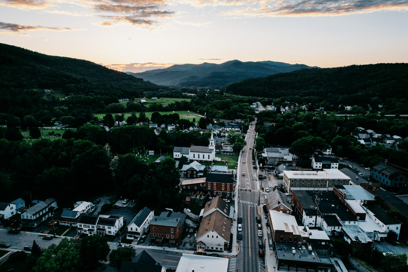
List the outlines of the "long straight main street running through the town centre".
{"type": "Polygon", "coordinates": [[[242,217],[242,241],[239,241],[240,252],[236,258],[236,272],[265,271],[264,260],[258,256],[258,241],[263,240],[263,237],[258,236],[257,213],[260,188],[256,169],[253,169],[252,165],[252,150],[256,135],[254,123],[251,123],[246,134],[247,144],[239,162],[240,173],[237,173],[240,179],[238,216],[242,217]],[[245,176],[242,176],[242,173],[245,176]]]}

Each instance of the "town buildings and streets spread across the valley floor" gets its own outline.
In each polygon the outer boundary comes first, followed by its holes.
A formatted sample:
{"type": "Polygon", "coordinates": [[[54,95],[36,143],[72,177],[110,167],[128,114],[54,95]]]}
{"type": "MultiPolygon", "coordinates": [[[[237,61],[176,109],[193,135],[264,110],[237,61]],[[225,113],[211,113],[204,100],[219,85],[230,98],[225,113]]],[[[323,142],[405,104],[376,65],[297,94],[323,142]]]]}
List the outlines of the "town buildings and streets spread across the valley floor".
{"type": "MultiPolygon", "coordinates": [[[[257,114],[291,110],[291,106],[277,109],[259,102],[249,106],[257,114]]],[[[72,197],[64,208],[51,194],[42,200],[30,195],[29,202],[22,198],[2,202],[0,245],[7,253],[0,262],[19,260],[21,254],[12,256],[22,251],[38,254],[45,265],[49,254],[62,254],[61,243],[63,247],[78,245],[81,251],[104,243],[105,253],[97,251],[88,267],[103,265],[103,269],[121,272],[365,272],[364,260],[385,271],[385,263],[393,263],[389,269],[406,269],[408,197],[393,192],[407,186],[408,170],[387,160],[363,165],[348,158],[346,150],[323,142],[308,143],[308,151],[296,141],[292,146],[279,145],[282,141],[266,144],[276,122],[260,121],[260,116],[186,128],[139,123],[160,137],[175,130],[209,136],[208,145],[184,142],[173,147],[171,157],[160,156],[152,162],[173,161],[177,166],[178,172],[172,175],[178,179],[174,187],[182,208],[154,210],[140,197],[113,193],[79,201],[72,197]]],[[[126,122],[115,125],[126,126],[126,122]]],[[[367,148],[394,148],[407,140],[358,130],[350,137],[367,148]]],[[[131,154],[146,159],[153,155],[154,150],[131,154]]],[[[119,183],[125,168],[118,165],[123,159],[115,156],[110,164],[113,171],[118,170],[114,180],[119,183]]]]}

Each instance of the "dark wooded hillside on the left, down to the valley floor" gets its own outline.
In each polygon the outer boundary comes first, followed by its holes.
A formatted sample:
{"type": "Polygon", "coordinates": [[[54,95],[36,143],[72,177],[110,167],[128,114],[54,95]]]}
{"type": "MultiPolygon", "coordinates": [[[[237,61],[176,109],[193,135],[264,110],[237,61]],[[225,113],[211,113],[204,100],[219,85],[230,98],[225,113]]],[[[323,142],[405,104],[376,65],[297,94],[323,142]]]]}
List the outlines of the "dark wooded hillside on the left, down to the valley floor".
{"type": "Polygon", "coordinates": [[[60,91],[63,97],[70,95],[75,101],[67,105],[93,110],[104,109],[118,98],[140,97],[145,91],[160,89],[90,61],[47,56],[7,44],[0,44],[0,70],[0,112],[3,113],[38,107],[38,102],[40,107],[56,106],[52,97],[42,98],[44,89],[60,91]]]}

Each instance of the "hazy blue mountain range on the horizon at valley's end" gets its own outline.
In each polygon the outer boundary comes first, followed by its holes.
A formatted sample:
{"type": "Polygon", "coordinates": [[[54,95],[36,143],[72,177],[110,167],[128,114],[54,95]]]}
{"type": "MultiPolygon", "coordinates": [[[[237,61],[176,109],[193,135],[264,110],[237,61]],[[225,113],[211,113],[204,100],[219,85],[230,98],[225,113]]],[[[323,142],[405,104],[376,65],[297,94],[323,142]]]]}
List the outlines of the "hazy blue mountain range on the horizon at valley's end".
{"type": "Polygon", "coordinates": [[[233,60],[221,64],[207,62],[202,64],[182,64],[173,65],[166,69],[126,73],[158,85],[219,88],[225,84],[249,78],[266,77],[275,73],[291,72],[305,68],[312,67],[304,64],[273,61],[242,62],[233,60]]]}

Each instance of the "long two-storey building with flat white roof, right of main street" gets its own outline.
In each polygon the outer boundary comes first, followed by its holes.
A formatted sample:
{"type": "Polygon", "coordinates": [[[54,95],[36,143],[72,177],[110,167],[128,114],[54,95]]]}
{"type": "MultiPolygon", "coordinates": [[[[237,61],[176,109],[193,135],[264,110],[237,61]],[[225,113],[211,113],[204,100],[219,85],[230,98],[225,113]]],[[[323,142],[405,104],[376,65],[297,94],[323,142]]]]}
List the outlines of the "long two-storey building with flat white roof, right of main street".
{"type": "Polygon", "coordinates": [[[292,190],[331,190],[333,185],[349,185],[350,178],[339,169],[322,171],[284,171],[284,187],[292,190]]]}

